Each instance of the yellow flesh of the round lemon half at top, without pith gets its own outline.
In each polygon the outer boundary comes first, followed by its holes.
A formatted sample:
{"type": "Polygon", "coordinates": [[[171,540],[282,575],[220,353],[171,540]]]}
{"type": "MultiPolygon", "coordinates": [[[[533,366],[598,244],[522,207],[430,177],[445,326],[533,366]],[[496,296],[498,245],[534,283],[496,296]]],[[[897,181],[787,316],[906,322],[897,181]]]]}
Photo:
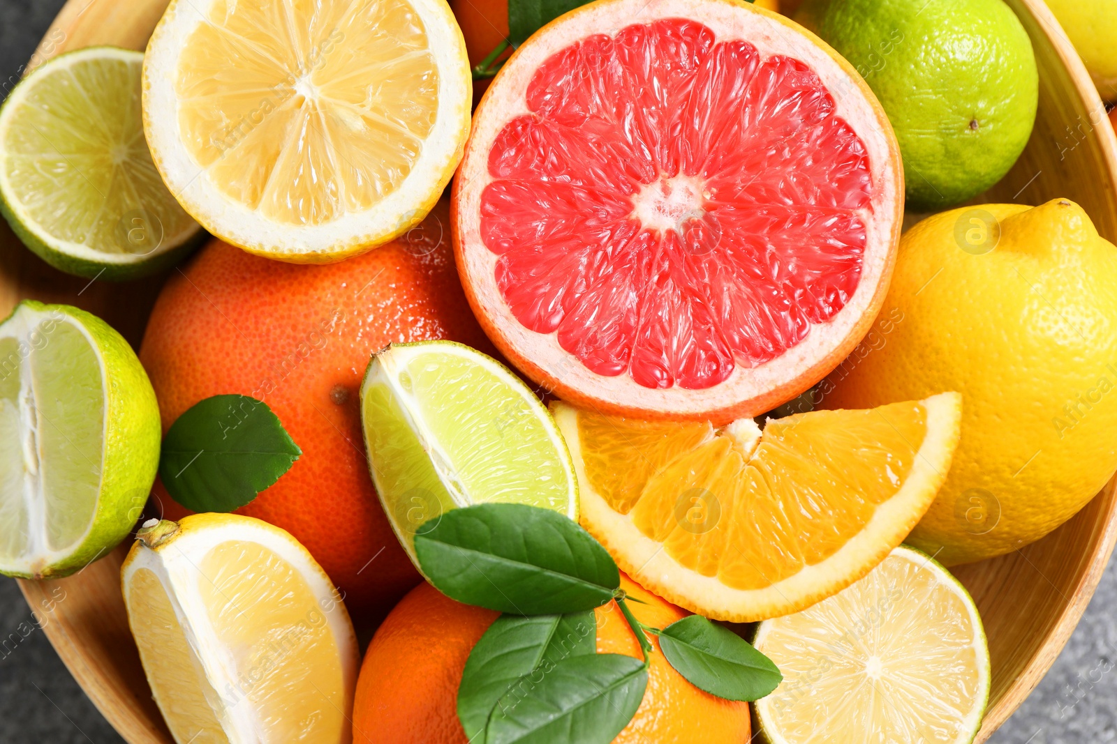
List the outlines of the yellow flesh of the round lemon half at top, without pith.
{"type": "Polygon", "coordinates": [[[407,0],[323,3],[296,27],[285,4],[210,7],[185,40],[194,54],[179,60],[179,126],[235,203],[321,224],[369,209],[411,173],[438,113],[438,67],[407,0]],[[228,69],[230,55],[241,67],[228,69]]]}

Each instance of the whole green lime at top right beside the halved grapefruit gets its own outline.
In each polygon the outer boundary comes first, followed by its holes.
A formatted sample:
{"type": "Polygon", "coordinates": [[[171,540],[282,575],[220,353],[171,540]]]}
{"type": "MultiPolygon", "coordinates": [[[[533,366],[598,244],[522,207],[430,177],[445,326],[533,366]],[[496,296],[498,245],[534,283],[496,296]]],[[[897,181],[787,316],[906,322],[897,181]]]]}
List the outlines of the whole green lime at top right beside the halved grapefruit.
{"type": "Polygon", "coordinates": [[[900,143],[909,207],[980,194],[1028,144],[1039,74],[1002,0],[806,0],[795,20],[877,94],[900,143]]]}

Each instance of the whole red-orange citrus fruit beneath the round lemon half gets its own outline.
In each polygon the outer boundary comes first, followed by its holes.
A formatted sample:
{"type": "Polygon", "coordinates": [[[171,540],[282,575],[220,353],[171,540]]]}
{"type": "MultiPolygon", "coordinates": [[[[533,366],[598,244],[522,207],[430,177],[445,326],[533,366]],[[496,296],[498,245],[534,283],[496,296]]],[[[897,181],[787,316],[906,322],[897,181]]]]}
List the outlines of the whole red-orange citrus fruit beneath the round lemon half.
{"type": "MultiPolygon", "coordinates": [[[[212,241],[171,276],[140,358],[163,432],[212,395],[264,400],[302,456],[238,513],[299,540],[359,627],[419,581],[369,475],[357,406],[370,355],[397,341],[449,338],[491,350],[462,296],[446,203],[404,236],[341,263],[297,265],[212,241]]],[[[156,484],[168,519],[188,512],[156,484]]]]}

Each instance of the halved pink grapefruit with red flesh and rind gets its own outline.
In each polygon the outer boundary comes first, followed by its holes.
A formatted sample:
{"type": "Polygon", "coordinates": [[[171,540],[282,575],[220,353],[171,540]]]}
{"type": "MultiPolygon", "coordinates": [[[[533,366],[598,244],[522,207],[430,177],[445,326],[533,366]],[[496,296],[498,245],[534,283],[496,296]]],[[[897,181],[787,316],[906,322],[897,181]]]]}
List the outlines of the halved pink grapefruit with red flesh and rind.
{"type": "Polygon", "coordinates": [[[485,94],[455,250],[481,326],[541,385],[725,423],[860,341],[903,194],[884,109],[810,32],[737,0],[599,0],[485,94]]]}

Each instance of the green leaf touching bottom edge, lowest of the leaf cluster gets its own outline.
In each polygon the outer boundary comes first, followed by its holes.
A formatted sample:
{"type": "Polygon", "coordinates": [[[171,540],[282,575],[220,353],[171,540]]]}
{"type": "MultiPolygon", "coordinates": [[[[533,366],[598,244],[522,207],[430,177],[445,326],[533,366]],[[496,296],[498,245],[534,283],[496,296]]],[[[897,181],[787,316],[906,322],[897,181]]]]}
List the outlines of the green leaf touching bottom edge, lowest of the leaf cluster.
{"type": "Polygon", "coordinates": [[[609,744],[636,715],[648,687],[642,659],[572,656],[526,689],[497,702],[484,744],[609,744]]]}

